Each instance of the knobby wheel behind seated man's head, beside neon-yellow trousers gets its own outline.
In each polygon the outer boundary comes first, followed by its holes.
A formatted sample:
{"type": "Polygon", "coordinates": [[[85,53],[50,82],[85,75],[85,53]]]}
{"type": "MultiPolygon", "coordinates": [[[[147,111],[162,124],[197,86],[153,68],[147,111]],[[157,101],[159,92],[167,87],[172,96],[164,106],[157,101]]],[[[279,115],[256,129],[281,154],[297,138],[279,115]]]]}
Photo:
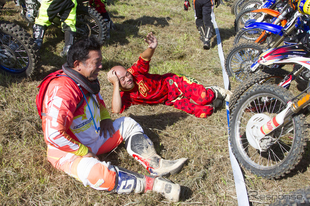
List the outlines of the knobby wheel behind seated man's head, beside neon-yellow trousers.
{"type": "Polygon", "coordinates": [[[109,36],[109,25],[103,20],[103,17],[92,7],[83,5],[77,6],[77,36],[94,36],[103,44],[109,36]]]}

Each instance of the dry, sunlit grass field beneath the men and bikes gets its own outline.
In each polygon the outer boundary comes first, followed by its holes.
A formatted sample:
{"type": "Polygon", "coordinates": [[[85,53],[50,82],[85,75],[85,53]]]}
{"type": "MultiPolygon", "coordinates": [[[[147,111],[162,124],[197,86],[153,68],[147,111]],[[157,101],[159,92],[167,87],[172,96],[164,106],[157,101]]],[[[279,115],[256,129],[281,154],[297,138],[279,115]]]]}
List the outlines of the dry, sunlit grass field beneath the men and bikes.
{"type": "MultiPolygon", "coordinates": [[[[204,86],[223,87],[216,38],[212,48],[203,50],[195,26],[192,7],[183,10],[182,0],[109,0],[108,11],[118,28],[102,47],[103,70],[99,75],[101,94],[110,111],[113,87],[107,80],[109,68],[122,64],[130,67],[146,48],[143,41],[152,31],[158,46],[151,61],[151,73],[187,74],[204,86]]],[[[224,54],[233,46],[234,15],[228,5],[215,8],[224,54]]],[[[20,17],[14,2],[8,2],[1,20],[14,22],[32,33],[20,17]]],[[[60,28],[47,30],[41,50],[41,70],[32,79],[0,74],[0,205],[237,205],[236,191],[228,153],[226,110],[206,119],[195,118],[165,105],[138,105],[123,114],[110,112],[111,118],[134,118],[154,142],[165,159],[188,157],[189,162],[169,177],[182,186],[179,203],[169,203],[155,192],[114,194],[84,187],[73,177],[56,170],[47,162],[44,142],[35,106],[36,88],[49,73],[61,68],[63,47],[60,28]]],[[[237,83],[232,80],[232,88],[237,83]]],[[[123,145],[112,153],[99,156],[141,174],[147,174],[130,157],[123,145]]],[[[265,195],[283,194],[310,184],[309,148],[299,165],[286,177],[266,180],[244,171],[249,200],[254,206],[272,202],[265,195]],[[258,194],[261,198],[257,198],[258,194]]]]}

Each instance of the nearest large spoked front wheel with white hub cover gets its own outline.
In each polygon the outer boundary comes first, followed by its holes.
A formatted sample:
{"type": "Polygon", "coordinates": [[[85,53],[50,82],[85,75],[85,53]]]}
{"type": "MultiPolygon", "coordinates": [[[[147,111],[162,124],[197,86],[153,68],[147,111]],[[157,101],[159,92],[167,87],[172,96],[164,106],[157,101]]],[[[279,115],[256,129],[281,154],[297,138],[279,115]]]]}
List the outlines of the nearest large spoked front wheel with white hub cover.
{"type": "Polygon", "coordinates": [[[258,85],[242,95],[232,111],[229,141],[233,154],[239,163],[259,177],[282,177],[293,170],[302,157],[307,141],[303,114],[293,115],[290,121],[261,140],[257,140],[252,131],[252,128],[260,128],[259,120],[268,120],[266,116],[274,118],[291,99],[292,95],[284,88],[258,85]]]}

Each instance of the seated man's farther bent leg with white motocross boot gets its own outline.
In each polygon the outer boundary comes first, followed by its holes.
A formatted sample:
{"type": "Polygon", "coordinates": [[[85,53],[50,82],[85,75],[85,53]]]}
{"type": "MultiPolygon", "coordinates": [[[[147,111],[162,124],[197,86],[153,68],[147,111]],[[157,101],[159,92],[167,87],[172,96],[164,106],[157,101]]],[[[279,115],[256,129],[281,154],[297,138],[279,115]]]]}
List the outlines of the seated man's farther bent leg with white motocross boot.
{"type": "Polygon", "coordinates": [[[113,122],[115,134],[106,138],[104,144],[94,151],[107,153],[125,141],[128,153],[139,161],[154,176],[169,176],[179,172],[188,158],[164,160],[155,150],[152,141],[143,133],[141,126],[132,118],[122,117],[113,122]]]}

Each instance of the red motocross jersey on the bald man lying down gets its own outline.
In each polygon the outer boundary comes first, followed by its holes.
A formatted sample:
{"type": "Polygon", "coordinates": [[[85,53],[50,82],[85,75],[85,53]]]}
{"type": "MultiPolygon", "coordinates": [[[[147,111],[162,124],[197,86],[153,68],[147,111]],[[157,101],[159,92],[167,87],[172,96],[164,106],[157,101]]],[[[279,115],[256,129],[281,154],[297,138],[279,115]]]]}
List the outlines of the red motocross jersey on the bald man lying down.
{"type": "Polygon", "coordinates": [[[175,74],[148,74],[149,69],[150,60],[144,60],[140,56],[127,70],[132,74],[135,86],[126,91],[121,89],[121,113],[131,104],[158,104],[167,101],[169,89],[166,78],[175,74]]]}

